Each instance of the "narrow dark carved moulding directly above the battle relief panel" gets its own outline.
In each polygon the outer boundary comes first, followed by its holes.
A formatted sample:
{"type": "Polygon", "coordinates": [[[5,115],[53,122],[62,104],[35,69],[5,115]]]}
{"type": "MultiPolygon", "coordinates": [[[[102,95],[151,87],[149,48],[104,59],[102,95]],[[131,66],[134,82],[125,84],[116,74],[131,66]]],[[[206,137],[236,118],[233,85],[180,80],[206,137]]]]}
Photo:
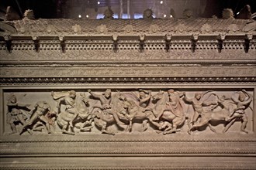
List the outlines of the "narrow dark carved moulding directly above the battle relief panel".
{"type": "Polygon", "coordinates": [[[209,83],[209,84],[228,84],[228,83],[240,83],[247,85],[254,85],[256,82],[255,77],[106,77],[106,78],[0,78],[0,83],[2,85],[36,85],[40,86],[45,83],[52,85],[71,85],[71,84],[87,84],[87,85],[100,85],[100,84],[116,84],[116,85],[126,85],[126,84],[153,84],[156,85],[170,85],[176,83],[182,83],[187,85],[192,85],[196,83],[209,83]]]}

